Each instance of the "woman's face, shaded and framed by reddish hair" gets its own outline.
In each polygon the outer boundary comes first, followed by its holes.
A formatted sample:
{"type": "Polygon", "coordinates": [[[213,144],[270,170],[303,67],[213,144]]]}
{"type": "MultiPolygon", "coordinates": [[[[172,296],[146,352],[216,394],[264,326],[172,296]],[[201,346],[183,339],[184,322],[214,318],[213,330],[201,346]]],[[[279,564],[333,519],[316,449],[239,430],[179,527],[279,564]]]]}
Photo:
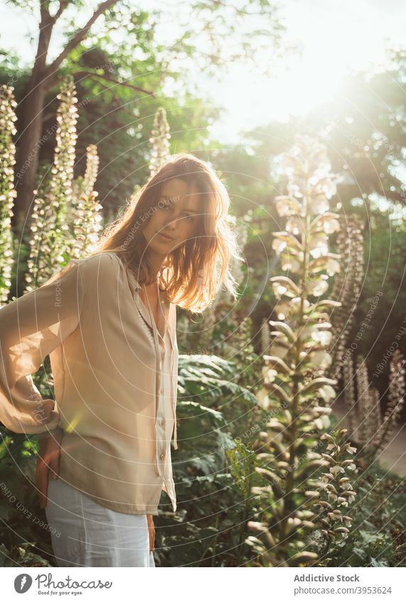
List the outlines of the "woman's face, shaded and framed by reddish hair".
{"type": "Polygon", "coordinates": [[[185,194],[187,183],[182,179],[170,179],[163,185],[153,214],[143,229],[148,248],[153,252],[167,255],[197,234],[204,199],[195,186],[191,186],[188,196],[185,194]]]}

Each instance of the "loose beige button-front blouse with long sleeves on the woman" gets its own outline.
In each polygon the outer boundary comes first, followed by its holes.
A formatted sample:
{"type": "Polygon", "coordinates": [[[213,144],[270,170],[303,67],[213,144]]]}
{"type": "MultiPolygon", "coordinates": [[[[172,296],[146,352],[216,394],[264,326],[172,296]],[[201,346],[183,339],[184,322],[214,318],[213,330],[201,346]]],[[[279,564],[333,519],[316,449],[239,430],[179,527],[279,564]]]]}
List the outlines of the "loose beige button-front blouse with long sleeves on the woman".
{"type": "Polygon", "coordinates": [[[140,289],[119,254],[100,252],[0,308],[0,420],[40,438],[62,428],[60,479],[157,515],[162,489],[176,510],[176,306],[160,290],[157,328],[140,289]],[[48,354],[55,401],[31,377],[48,354]]]}

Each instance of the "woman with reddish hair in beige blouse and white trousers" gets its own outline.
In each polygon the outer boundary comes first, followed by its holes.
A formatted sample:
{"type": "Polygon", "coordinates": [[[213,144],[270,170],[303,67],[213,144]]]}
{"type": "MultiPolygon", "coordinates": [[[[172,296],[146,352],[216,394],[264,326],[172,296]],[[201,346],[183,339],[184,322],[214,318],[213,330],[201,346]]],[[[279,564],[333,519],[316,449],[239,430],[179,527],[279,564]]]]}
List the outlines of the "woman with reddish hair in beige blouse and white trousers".
{"type": "Polygon", "coordinates": [[[222,282],[235,296],[228,211],[214,170],[174,155],[94,252],[0,310],[0,420],[38,433],[60,567],[155,566],[162,490],[176,511],[176,306],[203,311],[222,282]],[[48,354],[55,402],[31,377],[48,354]]]}

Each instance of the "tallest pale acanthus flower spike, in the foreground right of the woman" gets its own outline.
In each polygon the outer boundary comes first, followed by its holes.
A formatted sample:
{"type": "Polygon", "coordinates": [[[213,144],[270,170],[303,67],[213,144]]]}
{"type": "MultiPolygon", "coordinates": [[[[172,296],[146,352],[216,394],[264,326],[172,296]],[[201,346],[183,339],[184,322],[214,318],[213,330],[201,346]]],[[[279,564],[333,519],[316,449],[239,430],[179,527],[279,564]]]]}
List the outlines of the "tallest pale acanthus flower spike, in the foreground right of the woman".
{"type": "Polygon", "coordinates": [[[260,433],[263,467],[256,470],[268,485],[252,489],[263,520],[248,523],[255,535],[246,540],[259,562],[271,567],[315,564],[318,554],[308,550],[309,534],[328,531],[321,523],[325,510],[319,511],[314,502],[322,499],[327,485],[317,478],[320,469],[334,464],[321,437],[329,428],[329,406],[336,395],[336,380],[326,376],[332,361],[329,312],[341,305],[319,299],[340,270],[340,256],[329,251],[329,235],[339,230],[339,215],[329,206],[336,185],[327,150],[314,138],[298,137],[281,159],[287,195],[275,203],[286,224],[285,230],[273,233],[273,248],[289,276],[270,278],[278,299],[277,319],[270,320],[270,352],[263,356],[268,395],[261,403],[266,409],[282,404],[285,409],[260,433]]]}

